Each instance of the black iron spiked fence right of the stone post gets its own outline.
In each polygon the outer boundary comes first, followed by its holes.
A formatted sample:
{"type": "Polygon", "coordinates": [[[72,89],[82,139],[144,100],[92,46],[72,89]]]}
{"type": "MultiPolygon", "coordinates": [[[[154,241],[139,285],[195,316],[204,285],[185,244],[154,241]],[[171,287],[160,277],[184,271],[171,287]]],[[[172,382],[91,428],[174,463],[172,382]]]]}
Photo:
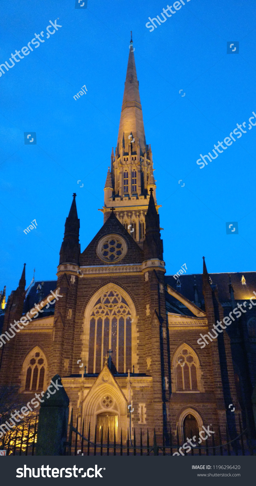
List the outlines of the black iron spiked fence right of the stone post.
{"type": "MultiPolygon", "coordinates": [[[[103,442],[104,431],[101,427],[101,438],[97,442],[97,428],[95,431],[91,431],[91,425],[89,424],[88,437],[84,436],[84,421],[82,424],[81,432],[78,431],[78,418],[76,427],[73,426],[73,410],[71,411],[71,419],[69,424],[69,439],[66,442],[66,455],[173,455],[177,452],[179,455],[256,455],[256,445],[251,439],[250,429],[247,427],[242,430],[241,420],[239,416],[240,434],[231,439],[228,428],[226,425],[225,437],[221,435],[220,428],[218,430],[218,436],[215,438],[214,434],[210,434],[210,438],[200,442],[191,440],[190,445],[188,442],[183,444],[179,439],[178,428],[176,436],[172,434],[172,430],[164,431],[162,439],[157,441],[157,435],[154,430],[152,436],[147,429],[146,438],[143,435],[142,429],[133,429],[132,437],[129,436],[129,430],[127,433],[121,429],[120,440],[116,440],[116,433],[114,430],[113,441],[110,441],[110,431],[108,428],[107,442],[103,442]],[[146,442],[146,443],[145,443],[146,442]],[[201,444],[204,444],[201,445],[201,444]],[[193,444],[193,445],[192,445],[193,444]],[[195,445],[194,445],[195,444],[195,445]],[[183,448],[183,445],[186,448],[183,448]],[[191,450],[189,450],[191,448],[191,450]]],[[[193,433],[191,431],[191,437],[193,433]]],[[[199,438],[199,431],[197,431],[197,437],[199,438]]],[[[201,439],[202,440],[202,439],[201,439]]]]}

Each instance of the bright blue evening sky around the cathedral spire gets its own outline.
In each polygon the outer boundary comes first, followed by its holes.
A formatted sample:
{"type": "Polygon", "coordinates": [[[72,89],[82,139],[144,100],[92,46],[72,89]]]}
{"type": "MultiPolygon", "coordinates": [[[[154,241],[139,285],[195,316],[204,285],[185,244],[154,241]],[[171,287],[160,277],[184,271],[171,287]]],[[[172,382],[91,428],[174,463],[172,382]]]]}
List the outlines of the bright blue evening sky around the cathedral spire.
{"type": "Polygon", "coordinates": [[[103,224],[98,208],[116,146],[130,30],[167,274],[184,263],[201,273],[203,255],[210,273],[256,270],[256,126],[248,130],[256,112],[256,4],[184,3],[150,32],[148,17],[160,15],[165,0],[88,0],[81,10],[75,0],[1,1],[1,63],[11,64],[11,53],[34,34],[44,31],[45,40],[0,77],[0,289],[6,285],[7,294],[24,262],[27,285],[34,267],[36,280],[56,278],[73,192],[81,251],[103,224]],[[49,20],[58,17],[62,27],[47,39],[49,20]],[[239,54],[226,53],[227,41],[239,41],[239,54]],[[87,94],[75,101],[83,85],[87,94]],[[200,169],[199,154],[243,121],[247,133],[200,169]],[[30,131],[36,145],[24,144],[30,131]],[[37,229],[25,234],[33,219],[37,229]],[[227,235],[233,221],[239,234],[227,235]]]}

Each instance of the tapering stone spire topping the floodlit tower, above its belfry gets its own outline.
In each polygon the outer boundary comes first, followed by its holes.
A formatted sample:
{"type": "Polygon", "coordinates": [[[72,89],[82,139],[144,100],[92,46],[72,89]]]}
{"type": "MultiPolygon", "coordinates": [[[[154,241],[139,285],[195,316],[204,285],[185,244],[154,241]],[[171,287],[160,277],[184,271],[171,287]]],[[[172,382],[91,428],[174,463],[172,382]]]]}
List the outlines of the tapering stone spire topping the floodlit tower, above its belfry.
{"type": "Polygon", "coordinates": [[[123,155],[123,150],[125,152],[129,151],[128,149],[133,139],[134,142],[132,143],[132,149],[135,150],[137,145],[139,145],[141,149],[141,154],[137,154],[138,156],[144,154],[146,151],[142,105],[139,93],[139,82],[135,67],[134,51],[135,49],[133,48],[131,36],[125,91],[117,139],[118,156],[123,155]],[[132,137],[128,138],[130,135],[132,135],[132,137]]]}

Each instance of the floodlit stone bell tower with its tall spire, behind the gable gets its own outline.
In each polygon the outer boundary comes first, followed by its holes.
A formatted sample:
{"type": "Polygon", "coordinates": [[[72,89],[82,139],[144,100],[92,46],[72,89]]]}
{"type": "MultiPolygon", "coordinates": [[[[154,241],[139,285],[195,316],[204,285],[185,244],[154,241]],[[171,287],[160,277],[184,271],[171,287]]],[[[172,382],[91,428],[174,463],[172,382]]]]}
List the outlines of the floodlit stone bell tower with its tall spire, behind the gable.
{"type": "MultiPolygon", "coordinates": [[[[132,36],[129,45],[125,91],[115,153],[104,188],[104,223],[114,206],[115,215],[133,239],[143,247],[145,215],[152,188],[155,204],[156,183],[150,145],[146,144],[142,106],[137,79],[132,36]]],[[[156,206],[157,210],[160,206],[156,206]]]]}

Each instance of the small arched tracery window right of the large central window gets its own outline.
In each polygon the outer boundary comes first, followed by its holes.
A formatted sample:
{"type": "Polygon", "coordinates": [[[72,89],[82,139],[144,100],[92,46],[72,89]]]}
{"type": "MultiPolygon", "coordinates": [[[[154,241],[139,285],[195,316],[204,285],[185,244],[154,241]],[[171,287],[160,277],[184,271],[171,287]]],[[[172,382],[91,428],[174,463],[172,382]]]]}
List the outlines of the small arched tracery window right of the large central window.
{"type": "Polygon", "coordinates": [[[191,347],[183,345],[175,358],[176,391],[198,391],[199,360],[191,347]]]}

